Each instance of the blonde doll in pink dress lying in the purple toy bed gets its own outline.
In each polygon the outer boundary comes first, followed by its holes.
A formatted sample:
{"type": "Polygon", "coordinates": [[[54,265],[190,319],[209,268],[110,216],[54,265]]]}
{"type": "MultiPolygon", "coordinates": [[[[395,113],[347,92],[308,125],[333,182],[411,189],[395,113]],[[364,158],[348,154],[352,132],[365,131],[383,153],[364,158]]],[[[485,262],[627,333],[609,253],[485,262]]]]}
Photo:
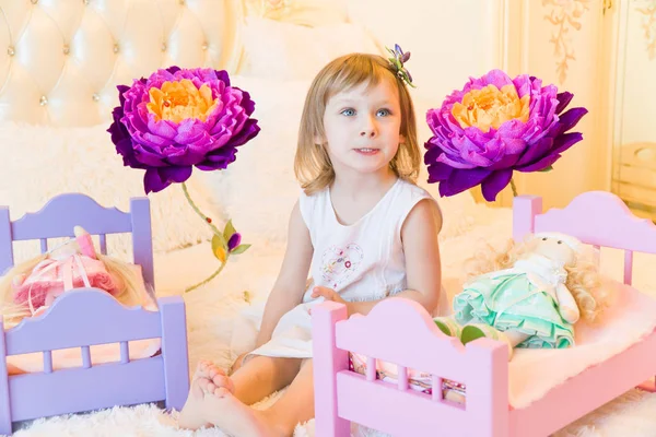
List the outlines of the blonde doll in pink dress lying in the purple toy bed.
{"type": "Polygon", "coordinates": [[[139,299],[133,265],[97,253],[91,235],[80,226],[74,238],[12,268],[0,282],[0,314],[9,324],[45,311],[69,290],[104,290],[125,305],[139,299]]]}

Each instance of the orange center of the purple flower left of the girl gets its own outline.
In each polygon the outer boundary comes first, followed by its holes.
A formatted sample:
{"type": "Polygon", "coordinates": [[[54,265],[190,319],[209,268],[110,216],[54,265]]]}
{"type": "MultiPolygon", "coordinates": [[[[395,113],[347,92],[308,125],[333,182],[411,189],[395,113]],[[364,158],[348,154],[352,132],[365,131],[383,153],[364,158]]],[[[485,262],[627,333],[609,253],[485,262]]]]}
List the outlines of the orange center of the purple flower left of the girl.
{"type": "Polygon", "coordinates": [[[156,120],[169,120],[179,123],[196,118],[206,121],[212,114],[219,99],[212,99],[212,90],[203,84],[200,90],[188,79],[179,82],[164,82],[162,88],[149,90],[148,111],[154,114],[156,120]]]}

